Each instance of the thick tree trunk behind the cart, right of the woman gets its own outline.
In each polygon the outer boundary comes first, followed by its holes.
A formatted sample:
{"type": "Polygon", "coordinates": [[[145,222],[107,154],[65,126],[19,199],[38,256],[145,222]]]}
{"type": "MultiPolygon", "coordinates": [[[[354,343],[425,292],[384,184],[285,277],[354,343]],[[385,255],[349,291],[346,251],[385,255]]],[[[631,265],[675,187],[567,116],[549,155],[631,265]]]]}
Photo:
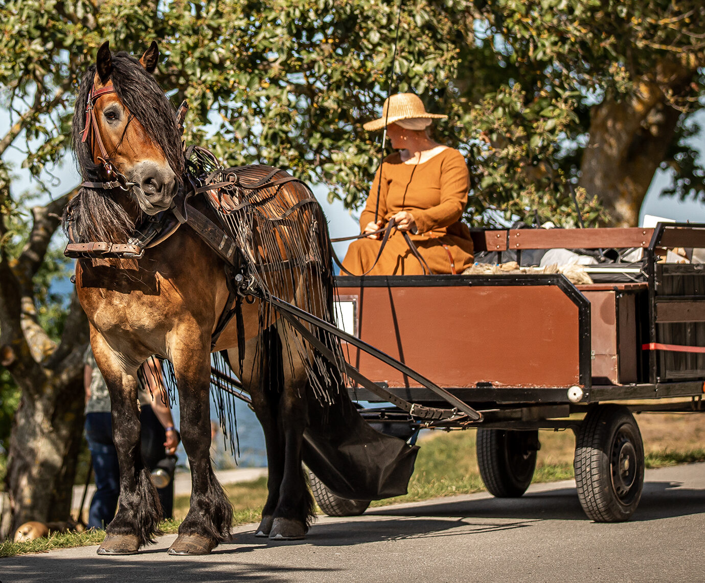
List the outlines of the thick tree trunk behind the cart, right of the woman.
{"type": "Polygon", "coordinates": [[[694,69],[684,63],[663,61],[630,97],[618,102],[607,96],[592,108],[580,185],[601,200],[614,226],[637,226],[644,196],[681,116],[666,92],[684,92],[693,75],[694,69]]]}

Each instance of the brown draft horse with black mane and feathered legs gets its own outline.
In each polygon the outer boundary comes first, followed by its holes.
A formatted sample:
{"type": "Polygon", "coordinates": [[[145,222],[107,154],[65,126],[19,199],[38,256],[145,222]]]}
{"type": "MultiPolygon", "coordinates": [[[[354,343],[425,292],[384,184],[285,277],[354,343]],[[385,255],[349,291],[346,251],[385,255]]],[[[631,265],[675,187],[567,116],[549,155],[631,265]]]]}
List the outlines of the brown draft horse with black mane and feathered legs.
{"type": "MultiPolygon", "coordinates": [[[[65,216],[69,234],[79,243],[129,244],[138,226],[169,209],[189,188],[176,111],[152,75],[158,57],[156,43],[137,61],[125,53],[111,54],[106,42],[82,80],[73,141],[85,182],[65,216]]],[[[281,176],[286,174],[279,171],[274,178],[281,176]]],[[[263,212],[281,215],[309,197],[309,191],[291,182],[267,196],[263,212]]],[[[195,199],[192,204],[216,220],[207,204],[195,199]]],[[[239,252],[278,250],[282,262],[297,254],[318,257],[308,267],[292,261],[286,276],[277,272],[269,278],[278,281],[279,297],[332,321],[328,235],[319,213],[300,207],[293,224],[276,231],[269,246],[259,240],[254,251],[239,252]],[[312,224],[318,225],[313,238],[312,224]]],[[[209,457],[212,350],[228,350],[264,428],[269,496],[257,535],[300,539],[307,532],[313,501],[301,460],[309,405],[312,399],[335,400],[343,381],[335,367],[316,364],[312,349],[260,300],[241,302],[239,317],[212,347],[219,317],[232,297],[224,267],[223,259],[189,223],[142,257],[106,254],[77,262],[75,283],[90,321],[95,359],[110,392],[121,473],[118,513],[106,528],[99,554],[136,553],[159,534],[159,499],[137,454],[137,370],[152,355],[173,365],[181,436],[192,472],[190,510],[169,553],[209,553],[230,536],[231,505],[209,457]]]]}

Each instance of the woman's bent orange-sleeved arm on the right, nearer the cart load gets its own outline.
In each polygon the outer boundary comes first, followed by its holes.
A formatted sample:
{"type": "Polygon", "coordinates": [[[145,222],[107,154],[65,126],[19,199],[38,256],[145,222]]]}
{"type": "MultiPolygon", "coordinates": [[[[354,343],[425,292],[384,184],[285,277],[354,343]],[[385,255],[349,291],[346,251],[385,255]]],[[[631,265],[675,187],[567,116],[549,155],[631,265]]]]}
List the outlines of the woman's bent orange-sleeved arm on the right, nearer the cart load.
{"type": "Polygon", "coordinates": [[[458,221],[467,204],[470,176],[462,154],[457,150],[441,161],[441,202],[435,207],[414,211],[419,233],[447,227],[458,221]]]}

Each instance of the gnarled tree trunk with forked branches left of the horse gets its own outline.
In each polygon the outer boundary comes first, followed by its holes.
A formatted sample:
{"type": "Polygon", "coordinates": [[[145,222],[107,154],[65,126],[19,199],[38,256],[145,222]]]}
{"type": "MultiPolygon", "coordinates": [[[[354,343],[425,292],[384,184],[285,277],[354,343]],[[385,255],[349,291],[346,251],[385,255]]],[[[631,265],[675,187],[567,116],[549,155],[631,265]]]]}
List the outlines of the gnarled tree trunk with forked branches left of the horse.
{"type": "MultiPolygon", "coordinates": [[[[61,340],[49,338],[39,325],[32,280],[73,194],[32,209],[32,231],[16,259],[0,245],[0,365],[22,391],[5,478],[10,513],[0,517],[0,539],[28,520],[61,522],[71,513],[83,427],[87,319],[74,292],[61,340]]],[[[0,191],[0,200],[3,196],[8,192],[0,191]]],[[[0,215],[0,234],[4,231],[0,215]]]]}

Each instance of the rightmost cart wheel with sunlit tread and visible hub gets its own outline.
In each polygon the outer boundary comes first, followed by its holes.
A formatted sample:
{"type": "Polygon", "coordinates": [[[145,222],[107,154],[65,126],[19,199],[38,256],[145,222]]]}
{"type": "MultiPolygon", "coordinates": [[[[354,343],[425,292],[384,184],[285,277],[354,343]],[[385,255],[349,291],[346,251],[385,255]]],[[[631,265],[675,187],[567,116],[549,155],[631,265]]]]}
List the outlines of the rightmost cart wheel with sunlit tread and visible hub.
{"type": "Polygon", "coordinates": [[[644,443],[626,407],[588,410],[575,443],[575,482],[582,509],[595,522],[623,522],[644,487],[644,443]]]}

